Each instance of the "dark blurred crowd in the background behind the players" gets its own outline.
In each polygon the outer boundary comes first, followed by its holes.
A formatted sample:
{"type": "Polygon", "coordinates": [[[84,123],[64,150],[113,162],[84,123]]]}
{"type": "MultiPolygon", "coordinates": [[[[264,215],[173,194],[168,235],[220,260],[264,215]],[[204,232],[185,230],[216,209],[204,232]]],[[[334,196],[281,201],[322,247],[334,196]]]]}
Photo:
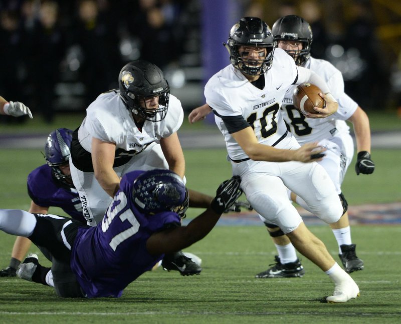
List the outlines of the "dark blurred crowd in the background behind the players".
{"type": "MultiPolygon", "coordinates": [[[[171,93],[190,111],[204,103],[207,1],[1,0],[0,95],[26,103],[51,123],[59,111],[85,110],[118,87],[125,63],[145,59],[163,70],[171,93]]],[[[230,3],[213,0],[222,1],[230,3]]],[[[312,56],[343,73],[346,92],[363,109],[401,106],[398,0],[232,2],[231,25],[245,16],[269,26],[284,15],[302,16],[312,27],[312,56]]],[[[20,120],[2,117],[0,122],[20,120]]]]}

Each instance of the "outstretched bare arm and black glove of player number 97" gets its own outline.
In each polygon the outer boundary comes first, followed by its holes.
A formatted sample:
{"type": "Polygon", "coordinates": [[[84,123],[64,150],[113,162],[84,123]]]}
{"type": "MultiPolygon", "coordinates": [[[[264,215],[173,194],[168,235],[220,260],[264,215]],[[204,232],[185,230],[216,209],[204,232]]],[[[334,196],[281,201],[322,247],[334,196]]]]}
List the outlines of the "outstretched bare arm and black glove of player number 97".
{"type": "Polygon", "coordinates": [[[179,251],[204,238],[216,225],[221,214],[242,194],[240,177],[224,181],[216,191],[210,207],[194,218],[187,226],[167,229],[151,235],[146,248],[151,254],[179,251]]]}

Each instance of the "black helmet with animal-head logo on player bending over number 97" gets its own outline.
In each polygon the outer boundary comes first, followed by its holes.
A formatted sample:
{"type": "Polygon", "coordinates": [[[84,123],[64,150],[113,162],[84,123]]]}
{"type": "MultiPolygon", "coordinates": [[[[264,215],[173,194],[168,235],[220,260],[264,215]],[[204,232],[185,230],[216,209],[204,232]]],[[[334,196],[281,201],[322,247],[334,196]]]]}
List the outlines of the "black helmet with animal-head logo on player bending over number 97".
{"type": "Polygon", "coordinates": [[[152,63],[137,60],[126,64],[118,76],[120,96],[133,114],[159,122],[167,114],[170,88],[163,72],[152,63]],[[159,107],[146,107],[145,99],[159,97],[159,107]]]}

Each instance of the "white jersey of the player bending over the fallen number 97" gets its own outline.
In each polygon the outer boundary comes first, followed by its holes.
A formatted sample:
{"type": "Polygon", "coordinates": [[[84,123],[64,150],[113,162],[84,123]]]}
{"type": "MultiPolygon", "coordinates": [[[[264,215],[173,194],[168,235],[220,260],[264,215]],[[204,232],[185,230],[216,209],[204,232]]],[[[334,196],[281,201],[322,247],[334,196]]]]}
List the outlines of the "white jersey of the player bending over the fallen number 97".
{"type": "Polygon", "coordinates": [[[168,110],[160,122],[145,121],[141,130],[135,125],[131,111],[123,103],[119,91],[101,94],[86,109],[86,117],[78,131],[82,147],[92,151],[92,137],[116,144],[116,151],[137,154],[152,142],[176,132],[183,121],[181,102],[170,95],[168,110]]]}

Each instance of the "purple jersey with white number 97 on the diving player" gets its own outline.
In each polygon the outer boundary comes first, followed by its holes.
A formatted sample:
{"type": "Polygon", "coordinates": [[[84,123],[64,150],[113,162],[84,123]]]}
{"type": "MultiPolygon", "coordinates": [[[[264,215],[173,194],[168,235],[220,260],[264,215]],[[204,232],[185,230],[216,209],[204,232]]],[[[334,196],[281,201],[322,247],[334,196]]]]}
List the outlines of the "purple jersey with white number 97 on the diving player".
{"type": "Polygon", "coordinates": [[[78,229],[72,247],[71,268],[87,297],[120,297],[123,289],[164,254],[151,255],[146,240],[173,224],[180,226],[175,212],[144,215],[132,202],[132,183],[143,171],[123,176],[120,189],[101,223],[78,229]]]}

